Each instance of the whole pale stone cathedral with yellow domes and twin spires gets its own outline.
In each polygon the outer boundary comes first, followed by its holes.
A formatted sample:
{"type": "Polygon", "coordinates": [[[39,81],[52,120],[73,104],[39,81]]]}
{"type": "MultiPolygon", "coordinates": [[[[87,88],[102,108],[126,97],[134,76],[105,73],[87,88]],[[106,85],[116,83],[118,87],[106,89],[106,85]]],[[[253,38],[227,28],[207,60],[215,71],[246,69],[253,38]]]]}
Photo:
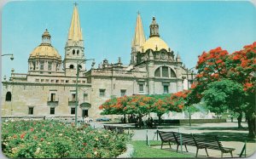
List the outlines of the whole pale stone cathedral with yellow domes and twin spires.
{"type": "Polygon", "coordinates": [[[160,38],[155,17],[149,29],[146,39],[141,15],[137,14],[130,65],[123,65],[119,57],[117,63],[103,60],[96,67],[94,60],[86,59],[75,5],[63,59],[46,29],[42,43],[29,54],[27,73],[13,69],[9,80],[4,79],[2,116],[74,117],[77,112],[78,116],[97,118],[101,116],[99,105],[113,97],[188,89],[193,74],[160,38]],[[91,68],[85,68],[86,61],[91,68]]]}

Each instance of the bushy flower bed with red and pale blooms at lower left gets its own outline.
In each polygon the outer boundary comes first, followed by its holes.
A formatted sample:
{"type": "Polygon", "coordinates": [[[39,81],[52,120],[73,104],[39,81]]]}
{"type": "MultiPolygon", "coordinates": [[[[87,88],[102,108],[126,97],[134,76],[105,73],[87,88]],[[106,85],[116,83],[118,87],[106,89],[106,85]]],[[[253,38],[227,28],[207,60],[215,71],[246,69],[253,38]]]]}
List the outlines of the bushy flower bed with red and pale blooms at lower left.
{"type": "Polygon", "coordinates": [[[2,150],[16,158],[116,157],[131,139],[127,133],[75,127],[54,121],[15,121],[2,124],[2,150]]]}

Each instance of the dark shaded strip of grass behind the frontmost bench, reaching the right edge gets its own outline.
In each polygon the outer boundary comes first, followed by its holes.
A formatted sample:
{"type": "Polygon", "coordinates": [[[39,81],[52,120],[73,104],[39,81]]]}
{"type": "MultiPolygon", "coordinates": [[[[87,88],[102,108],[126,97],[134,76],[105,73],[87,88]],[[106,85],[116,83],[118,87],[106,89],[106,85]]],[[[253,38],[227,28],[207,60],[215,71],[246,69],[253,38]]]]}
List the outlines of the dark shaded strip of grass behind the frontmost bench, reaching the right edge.
{"type": "Polygon", "coordinates": [[[256,139],[251,139],[247,137],[247,133],[231,133],[231,132],[205,132],[200,134],[207,134],[207,135],[217,135],[219,140],[221,141],[240,141],[240,142],[249,142],[255,143],[256,139]]]}

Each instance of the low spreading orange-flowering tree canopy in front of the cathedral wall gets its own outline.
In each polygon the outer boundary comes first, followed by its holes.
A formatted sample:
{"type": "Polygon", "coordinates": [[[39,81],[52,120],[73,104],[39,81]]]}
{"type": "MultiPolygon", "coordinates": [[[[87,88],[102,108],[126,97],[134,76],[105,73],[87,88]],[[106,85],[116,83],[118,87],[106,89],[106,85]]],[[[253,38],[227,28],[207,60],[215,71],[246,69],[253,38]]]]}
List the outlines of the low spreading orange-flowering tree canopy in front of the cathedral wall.
{"type": "Polygon", "coordinates": [[[119,98],[108,99],[100,105],[102,114],[137,114],[139,123],[142,123],[143,116],[154,112],[159,117],[168,111],[181,111],[185,103],[184,97],[187,93],[164,95],[132,95],[119,98]]]}

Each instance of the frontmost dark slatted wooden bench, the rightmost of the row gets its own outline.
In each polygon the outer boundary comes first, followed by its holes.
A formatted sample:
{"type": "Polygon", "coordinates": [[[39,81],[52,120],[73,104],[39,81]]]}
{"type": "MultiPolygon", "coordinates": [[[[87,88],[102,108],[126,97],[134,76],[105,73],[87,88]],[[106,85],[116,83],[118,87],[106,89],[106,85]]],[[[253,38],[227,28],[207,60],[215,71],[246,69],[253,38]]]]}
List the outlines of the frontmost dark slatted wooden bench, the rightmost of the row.
{"type": "MultiPolygon", "coordinates": [[[[207,152],[207,149],[220,150],[221,157],[223,157],[224,153],[230,153],[231,157],[233,157],[232,151],[236,150],[234,148],[224,147],[219,141],[218,136],[193,134],[193,138],[195,140],[195,146],[196,146],[195,157],[197,157],[199,149],[205,149],[206,152],[207,152]]],[[[208,152],[207,152],[207,156],[209,156],[208,152]]]]}

